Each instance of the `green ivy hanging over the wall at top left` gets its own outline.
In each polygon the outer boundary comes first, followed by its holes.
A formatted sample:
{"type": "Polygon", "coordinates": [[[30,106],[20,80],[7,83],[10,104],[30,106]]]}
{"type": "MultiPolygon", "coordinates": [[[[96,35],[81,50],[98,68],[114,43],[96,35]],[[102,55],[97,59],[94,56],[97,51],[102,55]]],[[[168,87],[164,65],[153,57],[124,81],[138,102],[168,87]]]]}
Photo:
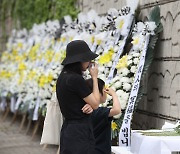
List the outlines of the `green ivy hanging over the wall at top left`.
{"type": "Polygon", "coordinates": [[[13,20],[14,28],[30,29],[34,23],[48,19],[62,19],[65,15],[75,18],[77,0],[0,0],[0,23],[5,30],[8,17],[13,20]]]}

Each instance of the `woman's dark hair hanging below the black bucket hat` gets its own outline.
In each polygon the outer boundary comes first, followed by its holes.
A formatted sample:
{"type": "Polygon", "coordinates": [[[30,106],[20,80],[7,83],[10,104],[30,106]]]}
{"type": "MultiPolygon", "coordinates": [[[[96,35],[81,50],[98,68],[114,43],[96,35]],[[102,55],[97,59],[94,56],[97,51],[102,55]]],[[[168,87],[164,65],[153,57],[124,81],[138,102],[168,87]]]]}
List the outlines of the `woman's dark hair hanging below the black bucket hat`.
{"type": "Polygon", "coordinates": [[[76,63],[64,65],[62,72],[74,72],[74,73],[82,75],[83,74],[82,64],[81,62],[76,62],[76,63]]]}

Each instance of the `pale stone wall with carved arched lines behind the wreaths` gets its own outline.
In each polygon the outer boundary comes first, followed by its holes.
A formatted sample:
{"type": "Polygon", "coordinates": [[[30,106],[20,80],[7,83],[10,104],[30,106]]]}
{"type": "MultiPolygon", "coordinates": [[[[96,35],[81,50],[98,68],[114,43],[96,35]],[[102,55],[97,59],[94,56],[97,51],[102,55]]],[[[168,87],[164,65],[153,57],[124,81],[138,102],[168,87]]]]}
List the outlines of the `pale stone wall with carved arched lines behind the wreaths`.
{"type": "MultiPolygon", "coordinates": [[[[79,0],[83,12],[94,9],[99,14],[124,5],[125,0],[79,0]]],[[[143,81],[146,90],[134,115],[135,129],[161,128],[165,120],[180,119],[180,0],[140,0],[141,19],[156,5],[161,9],[164,31],[143,81]]]]}

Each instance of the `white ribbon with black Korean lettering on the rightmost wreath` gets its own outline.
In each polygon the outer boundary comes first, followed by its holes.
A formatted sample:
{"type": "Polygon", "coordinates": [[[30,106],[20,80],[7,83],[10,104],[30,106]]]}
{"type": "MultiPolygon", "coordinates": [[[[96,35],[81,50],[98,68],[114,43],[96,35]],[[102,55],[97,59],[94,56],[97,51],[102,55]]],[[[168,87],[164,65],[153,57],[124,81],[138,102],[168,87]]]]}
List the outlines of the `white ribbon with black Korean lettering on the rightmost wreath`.
{"type": "Polygon", "coordinates": [[[149,35],[146,36],[145,39],[145,45],[144,49],[141,54],[140,62],[138,65],[138,69],[135,75],[135,79],[133,82],[133,86],[131,89],[130,97],[128,100],[128,105],[126,108],[125,116],[123,119],[123,123],[119,132],[119,145],[120,146],[130,146],[130,136],[131,136],[131,119],[132,119],[132,114],[134,111],[134,105],[136,102],[139,86],[140,86],[140,80],[141,80],[141,75],[142,71],[144,68],[144,63],[145,63],[145,57],[146,57],[146,51],[148,48],[149,44],[149,35]]]}

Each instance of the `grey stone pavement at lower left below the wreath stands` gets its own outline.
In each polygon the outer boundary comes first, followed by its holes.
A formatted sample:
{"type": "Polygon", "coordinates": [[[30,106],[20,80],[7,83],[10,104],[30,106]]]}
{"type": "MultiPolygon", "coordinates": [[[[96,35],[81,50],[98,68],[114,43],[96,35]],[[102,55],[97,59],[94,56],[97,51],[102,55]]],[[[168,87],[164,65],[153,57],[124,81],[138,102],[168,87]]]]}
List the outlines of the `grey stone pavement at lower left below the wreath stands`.
{"type": "Polygon", "coordinates": [[[40,133],[31,140],[31,135],[26,135],[25,130],[18,131],[19,121],[10,126],[12,116],[8,116],[4,122],[1,118],[0,114],[0,154],[56,154],[57,146],[48,145],[44,151],[42,150],[40,133]]]}

